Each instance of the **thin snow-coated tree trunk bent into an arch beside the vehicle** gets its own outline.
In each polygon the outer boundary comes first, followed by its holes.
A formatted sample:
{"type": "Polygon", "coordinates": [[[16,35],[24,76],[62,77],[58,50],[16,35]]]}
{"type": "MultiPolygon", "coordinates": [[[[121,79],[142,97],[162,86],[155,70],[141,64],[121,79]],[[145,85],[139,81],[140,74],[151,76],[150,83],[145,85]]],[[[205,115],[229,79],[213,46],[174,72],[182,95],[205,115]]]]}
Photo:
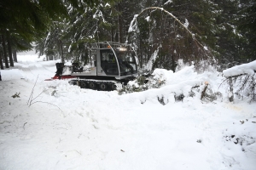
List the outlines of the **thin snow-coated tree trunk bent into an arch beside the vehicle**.
{"type": "MultiPolygon", "coordinates": [[[[190,36],[195,40],[195,42],[197,42],[202,48],[207,49],[204,45],[201,44],[201,42],[198,42],[195,38],[195,34],[192,33],[191,31],[189,31],[188,29],[188,20],[186,20],[185,24],[183,24],[180,20],[177,19],[176,16],[174,16],[172,13],[166,11],[166,9],[164,8],[160,8],[160,7],[148,7],[148,8],[144,8],[143,11],[140,14],[135,14],[133,17],[133,20],[131,20],[131,24],[129,27],[128,32],[132,32],[132,31],[136,31],[137,30],[137,17],[140,16],[141,14],[143,14],[145,11],[149,10],[149,9],[160,9],[161,11],[165,12],[166,14],[172,16],[172,18],[174,20],[177,21],[178,24],[180,24],[181,26],[183,26],[183,28],[190,34],[190,36]]],[[[128,42],[128,37],[126,39],[126,41],[128,42]]]]}

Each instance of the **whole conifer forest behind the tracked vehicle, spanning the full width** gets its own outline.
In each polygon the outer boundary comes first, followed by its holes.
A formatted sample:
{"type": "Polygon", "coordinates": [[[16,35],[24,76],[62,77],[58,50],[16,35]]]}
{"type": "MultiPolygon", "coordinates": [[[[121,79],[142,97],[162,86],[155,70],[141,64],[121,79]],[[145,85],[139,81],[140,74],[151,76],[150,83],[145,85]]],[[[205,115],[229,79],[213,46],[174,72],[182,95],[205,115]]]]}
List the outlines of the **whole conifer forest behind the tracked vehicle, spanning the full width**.
{"type": "Polygon", "coordinates": [[[0,65],[32,48],[86,65],[90,44],[108,41],[132,44],[141,70],[183,59],[222,71],[256,59],[255,18],[253,0],[1,0],[0,65]]]}

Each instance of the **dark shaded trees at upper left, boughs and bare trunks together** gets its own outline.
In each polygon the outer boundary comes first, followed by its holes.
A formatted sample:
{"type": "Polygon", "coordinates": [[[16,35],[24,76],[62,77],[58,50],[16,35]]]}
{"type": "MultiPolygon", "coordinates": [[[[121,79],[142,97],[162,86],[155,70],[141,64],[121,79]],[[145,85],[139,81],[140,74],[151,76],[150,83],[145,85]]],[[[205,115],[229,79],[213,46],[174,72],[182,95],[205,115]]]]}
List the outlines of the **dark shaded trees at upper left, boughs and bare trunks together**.
{"type": "Polygon", "coordinates": [[[92,8],[99,3],[101,0],[0,0],[1,69],[3,63],[6,68],[14,66],[16,52],[40,42],[52,24],[69,20],[68,6],[82,10],[81,5],[92,8]]]}

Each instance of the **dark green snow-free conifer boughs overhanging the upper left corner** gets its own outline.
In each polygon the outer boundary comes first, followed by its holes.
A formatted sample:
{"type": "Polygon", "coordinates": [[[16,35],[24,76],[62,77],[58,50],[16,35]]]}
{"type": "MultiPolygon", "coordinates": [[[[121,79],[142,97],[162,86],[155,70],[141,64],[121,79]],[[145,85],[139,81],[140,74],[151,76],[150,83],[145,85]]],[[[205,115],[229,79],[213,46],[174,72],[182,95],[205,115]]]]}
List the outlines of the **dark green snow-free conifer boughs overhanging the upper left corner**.
{"type": "MultiPolygon", "coordinates": [[[[2,0],[0,1],[0,35],[6,36],[6,31],[9,31],[9,35],[15,35],[15,38],[31,43],[43,37],[53,21],[67,18],[67,4],[73,8],[79,8],[81,5],[92,8],[101,2],[101,0],[2,0]]],[[[104,2],[113,2],[113,0],[104,0],[104,2]]],[[[9,41],[12,41],[12,36],[9,41]]],[[[15,45],[18,49],[19,45],[15,45]]],[[[61,46],[63,44],[59,41],[60,49],[61,46]]]]}

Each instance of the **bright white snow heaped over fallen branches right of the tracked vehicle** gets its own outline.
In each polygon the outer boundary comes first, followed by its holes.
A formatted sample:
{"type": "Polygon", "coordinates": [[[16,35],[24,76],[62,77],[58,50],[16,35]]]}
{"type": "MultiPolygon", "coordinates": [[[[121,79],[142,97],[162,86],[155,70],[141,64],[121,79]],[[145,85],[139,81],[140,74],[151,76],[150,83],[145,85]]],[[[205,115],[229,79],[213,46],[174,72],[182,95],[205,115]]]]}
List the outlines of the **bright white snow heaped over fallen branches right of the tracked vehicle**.
{"type": "MultiPolygon", "coordinates": [[[[173,104],[177,100],[191,97],[191,90],[195,87],[198,88],[198,90],[195,90],[195,98],[201,99],[201,91],[205,88],[205,84],[208,84],[208,88],[211,89],[211,95],[217,93],[219,92],[217,82],[222,82],[217,72],[205,72],[198,75],[193,65],[184,67],[181,71],[175,73],[173,71],[166,71],[165,69],[155,69],[152,75],[153,78],[150,78],[148,83],[154,84],[155,80],[159,81],[159,83],[165,82],[164,85],[160,88],[151,88],[143,92],[126,95],[140,103],[159,100],[162,105],[167,105],[170,102],[173,104]]],[[[150,84],[148,84],[149,88],[150,84]]],[[[138,84],[134,81],[129,82],[129,85],[138,88],[138,84]]]]}

